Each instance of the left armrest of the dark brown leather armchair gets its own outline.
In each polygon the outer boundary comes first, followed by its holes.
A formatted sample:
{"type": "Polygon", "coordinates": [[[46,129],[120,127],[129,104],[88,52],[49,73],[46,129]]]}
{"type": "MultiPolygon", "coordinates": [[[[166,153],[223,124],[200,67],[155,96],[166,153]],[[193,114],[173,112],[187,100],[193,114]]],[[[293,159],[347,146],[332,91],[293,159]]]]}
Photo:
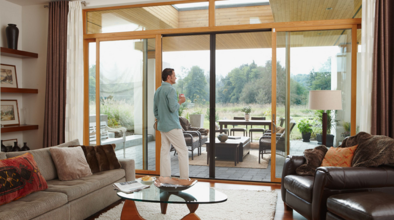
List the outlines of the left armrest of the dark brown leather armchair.
{"type": "Polygon", "coordinates": [[[283,164],[282,181],[280,187],[283,202],[286,202],[286,189],[284,188],[284,178],[287,175],[296,174],[295,170],[297,169],[297,167],[301,166],[305,162],[307,162],[307,160],[303,155],[288,155],[286,157],[286,160],[283,164]]]}

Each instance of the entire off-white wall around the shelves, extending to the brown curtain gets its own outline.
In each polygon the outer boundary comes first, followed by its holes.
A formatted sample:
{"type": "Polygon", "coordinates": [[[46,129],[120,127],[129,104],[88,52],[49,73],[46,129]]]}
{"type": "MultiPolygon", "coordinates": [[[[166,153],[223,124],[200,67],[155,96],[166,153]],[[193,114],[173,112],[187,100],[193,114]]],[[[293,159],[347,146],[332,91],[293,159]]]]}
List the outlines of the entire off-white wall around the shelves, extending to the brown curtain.
{"type": "Polygon", "coordinates": [[[21,108],[28,109],[27,124],[38,124],[38,130],[2,134],[2,140],[18,139],[18,145],[27,142],[30,149],[42,148],[43,116],[45,109],[45,85],[47,65],[48,9],[43,5],[19,6],[0,0],[0,46],[7,47],[5,29],[16,24],[19,29],[18,50],[38,54],[38,58],[13,58],[1,56],[1,63],[16,66],[19,88],[38,89],[38,94],[2,94],[1,99],[18,101],[19,119],[21,108]]]}

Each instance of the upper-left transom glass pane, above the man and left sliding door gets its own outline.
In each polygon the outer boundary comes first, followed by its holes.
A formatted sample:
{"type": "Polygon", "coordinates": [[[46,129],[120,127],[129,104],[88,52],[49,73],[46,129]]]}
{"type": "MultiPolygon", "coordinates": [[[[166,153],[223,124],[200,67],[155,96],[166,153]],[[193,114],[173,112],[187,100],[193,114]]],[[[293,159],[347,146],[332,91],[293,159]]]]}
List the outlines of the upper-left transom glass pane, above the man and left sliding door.
{"type": "Polygon", "coordinates": [[[208,27],[208,2],[87,12],[87,34],[208,27]]]}

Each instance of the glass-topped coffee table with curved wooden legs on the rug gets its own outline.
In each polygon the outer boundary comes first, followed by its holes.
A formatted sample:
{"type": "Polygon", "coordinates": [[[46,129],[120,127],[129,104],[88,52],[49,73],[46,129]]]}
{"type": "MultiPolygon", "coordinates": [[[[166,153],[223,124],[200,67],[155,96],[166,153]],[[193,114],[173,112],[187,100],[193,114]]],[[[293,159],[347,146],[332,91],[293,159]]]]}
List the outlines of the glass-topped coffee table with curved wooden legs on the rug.
{"type": "Polygon", "coordinates": [[[169,203],[186,204],[190,213],[183,217],[183,220],[200,219],[199,216],[194,213],[200,204],[223,203],[227,201],[227,195],[224,193],[199,183],[196,183],[189,189],[179,192],[167,192],[152,184],[150,188],[146,188],[138,192],[124,193],[118,191],[118,196],[126,200],[120,216],[121,220],[145,220],[140,213],[138,213],[134,201],[160,203],[161,213],[163,214],[166,213],[167,205],[169,203]]]}

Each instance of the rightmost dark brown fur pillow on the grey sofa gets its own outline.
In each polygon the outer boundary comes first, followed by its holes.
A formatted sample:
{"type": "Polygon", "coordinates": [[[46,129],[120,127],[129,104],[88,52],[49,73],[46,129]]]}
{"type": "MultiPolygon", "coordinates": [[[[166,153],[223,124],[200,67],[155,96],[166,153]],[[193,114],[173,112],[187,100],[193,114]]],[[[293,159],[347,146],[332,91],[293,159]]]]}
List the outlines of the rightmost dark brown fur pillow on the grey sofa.
{"type": "Polygon", "coordinates": [[[115,154],[115,144],[95,146],[96,158],[100,171],[119,169],[121,167],[115,154]]]}

